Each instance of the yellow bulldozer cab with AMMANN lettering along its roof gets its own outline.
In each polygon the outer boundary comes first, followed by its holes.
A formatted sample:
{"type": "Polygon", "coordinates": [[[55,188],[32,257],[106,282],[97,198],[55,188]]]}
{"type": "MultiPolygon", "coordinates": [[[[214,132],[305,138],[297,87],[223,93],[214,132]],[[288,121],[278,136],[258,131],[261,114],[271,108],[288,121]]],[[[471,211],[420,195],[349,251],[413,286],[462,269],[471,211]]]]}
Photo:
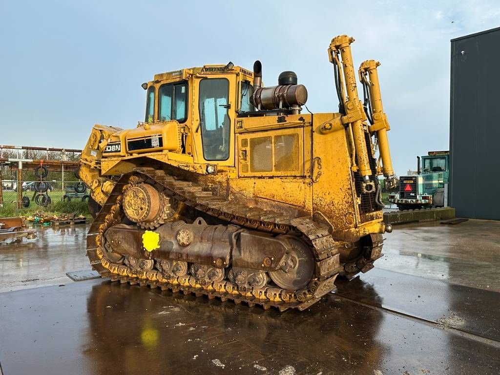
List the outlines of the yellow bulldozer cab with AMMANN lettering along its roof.
{"type": "Polygon", "coordinates": [[[180,153],[194,162],[234,166],[232,124],[251,112],[252,72],[231,63],[204,65],[156,74],[144,83],[144,121],[177,121],[181,125],[180,153]]]}

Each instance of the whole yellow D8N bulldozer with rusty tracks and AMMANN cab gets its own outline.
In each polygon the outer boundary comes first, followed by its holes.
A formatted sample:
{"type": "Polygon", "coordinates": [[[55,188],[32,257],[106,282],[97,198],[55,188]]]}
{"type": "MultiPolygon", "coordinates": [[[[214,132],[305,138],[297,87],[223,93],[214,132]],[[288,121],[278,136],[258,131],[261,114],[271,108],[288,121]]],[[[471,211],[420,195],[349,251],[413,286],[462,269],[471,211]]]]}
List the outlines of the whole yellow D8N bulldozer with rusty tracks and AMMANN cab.
{"type": "Polygon", "coordinates": [[[92,267],[279,310],[303,310],[338,275],[371,269],[391,231],[378,175],[394,178],[379,63],[358,70],[361,102],[353,41],[328,48],[336,113],[302,112],[297,75],[264,86],[257,60],[253,71],[229,62],[155,74],[142,84],[143,122],[94,125],[78,170],[90,186],[92,267]]]}

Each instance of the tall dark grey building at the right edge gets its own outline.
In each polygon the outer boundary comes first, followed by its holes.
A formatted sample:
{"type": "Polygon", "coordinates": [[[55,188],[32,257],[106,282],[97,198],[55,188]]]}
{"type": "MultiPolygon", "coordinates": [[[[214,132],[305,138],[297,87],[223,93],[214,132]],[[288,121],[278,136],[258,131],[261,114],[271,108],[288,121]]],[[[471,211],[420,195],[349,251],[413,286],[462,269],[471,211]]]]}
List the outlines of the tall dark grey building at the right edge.
{"type": "Polygon", "coordinates": [[[500,219],[500,27],[451,39],[448,205],[500,219]]]}

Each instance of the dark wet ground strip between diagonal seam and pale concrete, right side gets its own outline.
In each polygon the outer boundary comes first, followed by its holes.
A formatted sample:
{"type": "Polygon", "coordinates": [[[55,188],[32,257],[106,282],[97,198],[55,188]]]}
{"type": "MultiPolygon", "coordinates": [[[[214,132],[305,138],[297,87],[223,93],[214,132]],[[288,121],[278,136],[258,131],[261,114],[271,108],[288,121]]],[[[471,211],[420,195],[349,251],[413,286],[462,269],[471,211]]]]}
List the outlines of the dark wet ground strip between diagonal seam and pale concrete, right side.
{"type": "Polygon", "coordinates": [[[337,286],[345,298],[500,342],[498,292],[379,268],[337,286]]]}

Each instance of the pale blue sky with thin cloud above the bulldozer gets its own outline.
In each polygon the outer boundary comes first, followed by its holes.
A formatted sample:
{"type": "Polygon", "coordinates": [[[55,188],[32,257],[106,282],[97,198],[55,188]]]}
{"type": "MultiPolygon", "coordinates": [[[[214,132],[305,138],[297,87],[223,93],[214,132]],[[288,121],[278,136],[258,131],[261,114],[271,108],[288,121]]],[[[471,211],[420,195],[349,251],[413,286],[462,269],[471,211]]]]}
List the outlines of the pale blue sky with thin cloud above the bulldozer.
{"type": "MultiPolygon", "coordinates": [[[[0,0],[0,144],[82,148],[94,123],[142,120],[155,73],[208,63],[263,82],[293,70],[312,112],[335,112],[332,37],[378,68],[396,174],[448,149],[450,39],[500,26],[496,0],[0,0]]],[[[362,91],[359,90],[362,97],[362,91]]]]}

